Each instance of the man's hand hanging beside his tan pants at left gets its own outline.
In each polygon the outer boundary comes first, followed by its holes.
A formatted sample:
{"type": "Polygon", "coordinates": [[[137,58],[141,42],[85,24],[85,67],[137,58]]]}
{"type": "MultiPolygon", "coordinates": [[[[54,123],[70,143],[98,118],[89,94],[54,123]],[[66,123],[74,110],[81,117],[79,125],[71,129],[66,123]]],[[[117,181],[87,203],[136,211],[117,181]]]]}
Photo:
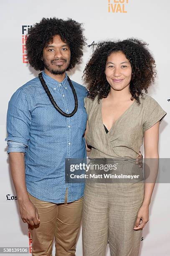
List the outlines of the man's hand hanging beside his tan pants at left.
{"type": "Polygon", "coordinates": [[[20,216],[24,223],[28,223],[31,226],[39,225],[40,218],[38,210],[30,200],[19,203],[20,216]]]}

